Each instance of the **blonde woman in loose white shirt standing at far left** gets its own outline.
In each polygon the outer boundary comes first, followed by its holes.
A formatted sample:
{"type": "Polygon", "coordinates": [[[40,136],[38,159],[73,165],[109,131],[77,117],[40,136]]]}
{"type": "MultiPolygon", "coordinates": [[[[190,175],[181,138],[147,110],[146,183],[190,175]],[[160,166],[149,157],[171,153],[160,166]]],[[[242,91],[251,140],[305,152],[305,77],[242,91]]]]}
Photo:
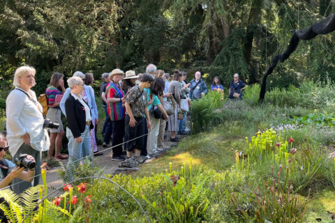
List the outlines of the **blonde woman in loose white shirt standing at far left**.
{"type": "Polygon", "coordinates": [[[39,184],[40,153],[50,146],[49,135],[43,128],[43,109],[37,101],[36,94],[31,91],[35,86],[36,70],[22,66],[15,70],[13,85],[6,99],[6,130],[10,154],[13,160],[21,153],[30,154],[36,160],[34,183],[14,178],[13,191],[20,194],[31,186],[39,184]]]}

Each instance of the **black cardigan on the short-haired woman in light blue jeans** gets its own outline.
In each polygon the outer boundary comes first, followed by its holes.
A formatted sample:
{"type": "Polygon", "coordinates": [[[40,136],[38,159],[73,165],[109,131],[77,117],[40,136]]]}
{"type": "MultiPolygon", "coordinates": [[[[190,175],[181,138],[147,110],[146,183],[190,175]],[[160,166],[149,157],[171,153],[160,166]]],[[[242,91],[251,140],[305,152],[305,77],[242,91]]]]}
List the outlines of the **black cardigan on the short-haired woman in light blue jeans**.
{"type": "MultiPolygon", "coordinates": [[[[81,133],[84,132],[86,125],[86,113],[82,103],[79,100],[76,100],[73,95],[70,94],[65,101],[65,111],[66,120],[68,121],[68,128],[71,130],[73,137],[80,137],[81,133]]],[[[94,128],[92,122],[89,128],[94,128]]]]}

